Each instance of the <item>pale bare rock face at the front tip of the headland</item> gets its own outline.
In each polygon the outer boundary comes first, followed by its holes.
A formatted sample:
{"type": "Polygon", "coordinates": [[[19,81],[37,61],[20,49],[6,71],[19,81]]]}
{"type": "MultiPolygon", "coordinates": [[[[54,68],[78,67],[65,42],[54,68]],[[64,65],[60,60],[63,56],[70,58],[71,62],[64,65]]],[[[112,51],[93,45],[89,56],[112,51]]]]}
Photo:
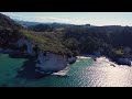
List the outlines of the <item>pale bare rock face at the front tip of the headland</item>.
{"type": "Polygon", "coordinates": [[[36,64],[36,70],[40,72],[58,72],[67,66],[68,62],[65,56],[50,52],[40,51],[36,64]]]}

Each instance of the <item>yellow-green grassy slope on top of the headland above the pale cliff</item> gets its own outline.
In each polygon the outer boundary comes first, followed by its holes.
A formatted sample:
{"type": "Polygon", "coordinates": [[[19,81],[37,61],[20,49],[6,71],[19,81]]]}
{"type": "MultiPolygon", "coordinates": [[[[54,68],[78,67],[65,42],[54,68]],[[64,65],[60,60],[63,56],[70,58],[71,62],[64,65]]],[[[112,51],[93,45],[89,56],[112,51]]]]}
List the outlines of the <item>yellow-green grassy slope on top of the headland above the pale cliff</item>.
{"type": "Polygon", "coordinates": [[[53,32],[34,32],[21,30],[20,33],[30,40],[34,45],[38,45],[42,51],[48,51],[57,54],[64,54],[65,47],[61,38],[53,32]]]}

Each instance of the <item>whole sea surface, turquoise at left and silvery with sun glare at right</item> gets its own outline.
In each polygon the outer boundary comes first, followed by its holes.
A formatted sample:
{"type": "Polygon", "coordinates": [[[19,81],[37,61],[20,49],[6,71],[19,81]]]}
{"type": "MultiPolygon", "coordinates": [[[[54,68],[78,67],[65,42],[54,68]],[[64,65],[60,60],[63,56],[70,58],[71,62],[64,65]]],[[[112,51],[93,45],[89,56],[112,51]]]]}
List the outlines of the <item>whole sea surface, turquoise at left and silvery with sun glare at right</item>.
{"type": "Polygon", "coordinates": [[[67,76],[51,75],[37,79],[18,77],[18,69],[26,62],[25,58],[0,54],[0,87],[132,87],[132,67],[118,66],[105,57],[97,62],[78,58],[70,65],[67,76]]]}

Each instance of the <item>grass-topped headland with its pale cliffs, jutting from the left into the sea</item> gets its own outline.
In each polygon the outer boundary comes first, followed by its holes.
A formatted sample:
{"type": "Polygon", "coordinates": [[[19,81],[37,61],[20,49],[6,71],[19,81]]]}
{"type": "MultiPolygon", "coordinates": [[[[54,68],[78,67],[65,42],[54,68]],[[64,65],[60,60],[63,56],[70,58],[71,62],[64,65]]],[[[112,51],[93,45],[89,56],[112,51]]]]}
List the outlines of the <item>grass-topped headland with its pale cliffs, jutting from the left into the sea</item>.
{"type": "Polygon", "coordinates": [[[58,72],[68,65],[67,51],[58,36],[53,32],[28,31],[9,16],[0,14],[0,52],[10,50],[14,56],[25,54],[35,57],[34,70],[40,73],[58,72]]]}

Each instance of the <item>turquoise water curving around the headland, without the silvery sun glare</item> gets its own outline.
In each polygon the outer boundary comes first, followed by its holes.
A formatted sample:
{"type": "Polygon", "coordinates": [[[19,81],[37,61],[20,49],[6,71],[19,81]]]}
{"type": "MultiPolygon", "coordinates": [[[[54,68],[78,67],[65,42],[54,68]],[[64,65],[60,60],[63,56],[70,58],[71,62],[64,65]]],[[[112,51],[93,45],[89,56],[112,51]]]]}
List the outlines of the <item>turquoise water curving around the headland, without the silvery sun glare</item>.
{"type": "Polygon", "coordinates": [[[82,69],[91,66],[94,61],[91,58],[78,59],[70,65],[66,77],[52,75],[37,79],[18,77],[18,70],[26,62],[29,61],[25,58],[11,58],[8,54],[0,54],[0,87],[79,87],[82,86],[80,81],[82,69]]]}

